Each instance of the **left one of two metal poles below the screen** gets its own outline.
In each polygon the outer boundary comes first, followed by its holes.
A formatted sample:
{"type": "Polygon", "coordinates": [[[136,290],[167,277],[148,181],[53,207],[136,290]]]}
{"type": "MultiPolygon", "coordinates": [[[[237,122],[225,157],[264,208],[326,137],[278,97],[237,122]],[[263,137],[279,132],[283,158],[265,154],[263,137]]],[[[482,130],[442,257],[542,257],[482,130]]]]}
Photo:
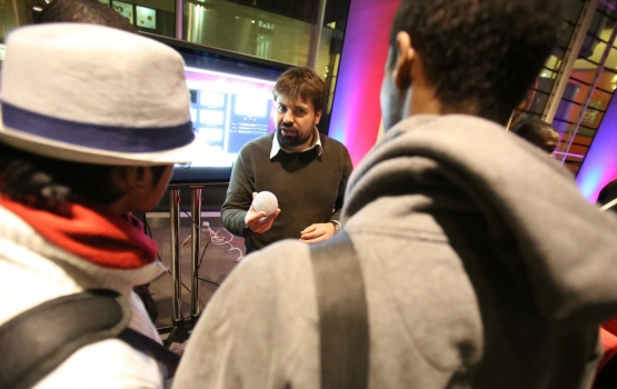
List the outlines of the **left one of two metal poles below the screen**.
{"type": "Polygon", "coordinates": [[[181,323],[182,290],[180,281],[180,190],[172,189],[170,196],[170,231],[171,231],[171,323],[181,323]]]}

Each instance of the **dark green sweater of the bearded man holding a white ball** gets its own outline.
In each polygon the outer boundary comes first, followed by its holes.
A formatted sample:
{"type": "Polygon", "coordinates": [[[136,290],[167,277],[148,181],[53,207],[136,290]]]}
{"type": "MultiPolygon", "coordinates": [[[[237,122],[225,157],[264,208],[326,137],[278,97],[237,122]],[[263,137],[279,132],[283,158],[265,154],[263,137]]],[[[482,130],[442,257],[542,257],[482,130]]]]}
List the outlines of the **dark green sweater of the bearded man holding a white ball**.
{"type": "Polygon", "coordinates": [[[270,159],[275,133],[256,139],[240,150],[231,171],[227,199],[221,208],[223,226],[245,237],[247,253],[281,239],[300,239],[312,223],[339,220],[351,159],[339,141],[320,134],[322,151],[279,151],[270,159]],[[272,228],[253,233],[245,226],[252,192],[270,191],[281,209],[272,228]]]}

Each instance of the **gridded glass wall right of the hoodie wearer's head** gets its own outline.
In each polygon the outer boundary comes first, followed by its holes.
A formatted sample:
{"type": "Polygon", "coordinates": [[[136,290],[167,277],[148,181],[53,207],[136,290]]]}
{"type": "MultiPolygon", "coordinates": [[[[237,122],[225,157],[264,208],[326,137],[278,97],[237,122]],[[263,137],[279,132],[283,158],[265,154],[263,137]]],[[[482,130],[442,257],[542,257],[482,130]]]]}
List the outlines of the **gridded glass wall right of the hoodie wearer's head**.
{"type": "Polygon", "coordinates": [[[553,122],[555,152],[578,173],[617,88],[617,0],[567,0],[564,29],[510,128],[529,117],[553,122]]]}

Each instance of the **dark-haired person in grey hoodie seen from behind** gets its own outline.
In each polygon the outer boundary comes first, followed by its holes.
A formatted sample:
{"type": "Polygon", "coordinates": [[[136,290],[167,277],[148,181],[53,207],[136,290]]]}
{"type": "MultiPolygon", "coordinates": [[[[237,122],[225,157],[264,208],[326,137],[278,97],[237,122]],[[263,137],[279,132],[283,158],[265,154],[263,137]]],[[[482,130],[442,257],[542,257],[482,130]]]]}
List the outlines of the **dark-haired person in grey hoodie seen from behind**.
{"type": "MultiPolygon", "coordinates": [[[[342,211],[368,306],[368,388],[593,379],[598,326],[617,313],[617,220],[505,130],[554,47],[559,3],[399,6],[388,130],[351,174],[342,211]]],[[[318,388],[315,282],[302,242],[247,257],[197,323],[175,386],[318,388]]]]}

